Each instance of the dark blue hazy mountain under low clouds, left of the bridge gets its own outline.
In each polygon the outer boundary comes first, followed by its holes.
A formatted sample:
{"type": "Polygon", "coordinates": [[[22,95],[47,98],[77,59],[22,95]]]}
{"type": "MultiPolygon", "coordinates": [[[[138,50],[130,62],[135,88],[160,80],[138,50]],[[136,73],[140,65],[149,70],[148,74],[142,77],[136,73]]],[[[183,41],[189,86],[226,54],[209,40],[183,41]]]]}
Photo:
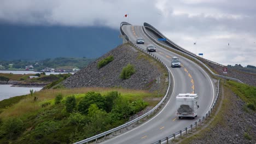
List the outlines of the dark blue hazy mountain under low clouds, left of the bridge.
{"type": "Polygon", "coordinates": [[[107,27],[24,26],[0,23],[0,60],[97,58],[122,43],[107,27]]]}

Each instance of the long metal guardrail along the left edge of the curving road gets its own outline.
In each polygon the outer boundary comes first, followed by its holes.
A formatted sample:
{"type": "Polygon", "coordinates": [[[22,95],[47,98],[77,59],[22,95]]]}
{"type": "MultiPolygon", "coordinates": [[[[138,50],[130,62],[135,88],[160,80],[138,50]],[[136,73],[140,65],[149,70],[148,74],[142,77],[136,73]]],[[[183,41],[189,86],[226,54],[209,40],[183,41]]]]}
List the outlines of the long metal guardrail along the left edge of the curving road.
{"type": "MultiPolygon", "coordinates": [[[[127,22],[121,22],[121,25],[120,25],[120,32],[121,34],[124,34],[124,31],[122,29],[122,27],[124,25],[131,25],[130,23],[127,23],[127,22]]],[[[153,55],[152,53],[149,53],[147,52],[146,50],[143,50],[141,47],[138,47],[137,45],[135,45],[134,43],[132,43],[130,40],[129,40],[129,37],[127,37],[126,35],[126,39],[128,40],[128,43],[130,43],[131,45],[133,45],[134,47],[136,47],[137,49],[143,51],[144,53],[147,53],[149,56],[152,56],[153,58],[155,58],[157,61],[159,61],[161,64],[165,65],[164,62],[162,62],[158,57],[156,57],[155,55],[153,55]]],[[[168,93],[170,91],[170,86],[171,86],[171,77],[170,77],[170,69],[167,67],[167,65],[165,65],[165,68],[167,69],[168,71],[168,80],[169,80],[169,84],[168,84],[168,88],[167,88],[167,92],[165,94],[165,97],[162,98],[162,100],[150,111],[148,111],[147,113],[145,113],[144,115],[136,118],[136,119],[133,119],[132,121],[130,122],[127,122],[123,125],[120,125],[119,127],[117,128],[113,128],[113,129],[110,129],[108,131],[105,131],[104,133],[101,133],[101,134],[98,134],[98,135],[95,135],[95,136],[92,136],[92,137],[89,137],[88,139],[85,139],[85,140],[82,140],[82,141],[79,141],[79,142],[75,142],[75,144],[80,144],[80,143],[88,143],[88,142],[91,142],[91,141],[98,141],[98,139],[106,139],[106,136],[109,135],[109,134],[112,134],[114,133],[115,131],[119,131],[121,129],[128,129],[129,126],[135,124],[135,123],[139,123],[139,121],[147,116],[151,116],[152,114],[154,114],[155,112],[158,111],[158,109],[164,105],[164,101],[167,100],[167,96],[168,96],[168,93]]]]}

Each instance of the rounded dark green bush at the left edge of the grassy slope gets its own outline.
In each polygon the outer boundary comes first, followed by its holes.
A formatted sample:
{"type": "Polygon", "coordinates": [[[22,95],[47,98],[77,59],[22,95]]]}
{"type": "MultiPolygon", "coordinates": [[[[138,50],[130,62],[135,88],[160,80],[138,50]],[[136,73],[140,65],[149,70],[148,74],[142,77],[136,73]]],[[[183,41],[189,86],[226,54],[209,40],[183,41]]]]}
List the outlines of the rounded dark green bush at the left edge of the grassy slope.
{"type": "Polygon", "coordinates": [[[13,139],[24,130],[23,125],[24,123],[20,118],[9,118],[7,121],[3,122],[1,130],[8,136],[8,139],[13,139]]]}

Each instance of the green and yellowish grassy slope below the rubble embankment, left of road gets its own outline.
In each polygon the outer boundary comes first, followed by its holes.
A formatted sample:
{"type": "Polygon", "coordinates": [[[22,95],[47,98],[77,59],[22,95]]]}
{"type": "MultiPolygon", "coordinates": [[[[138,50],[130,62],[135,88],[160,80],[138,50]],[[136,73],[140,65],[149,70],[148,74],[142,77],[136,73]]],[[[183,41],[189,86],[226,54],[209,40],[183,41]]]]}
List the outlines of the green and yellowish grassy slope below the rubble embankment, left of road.
{"type": "MultiPolygon", "coordinates": [[[[102,95],[111,91],[118,91],[121,93],[122,97],[129,99],[129,101],[135,101],[138,99],[147,100],[158,97],[155,93],[122,88],[48,89],[36,92],[32,97],[31,95],[25,95],[0,101],[1,106],[4,104],[4,106],[1,107],[0,119],[1,121],[5,121],[9,117],[16,117],[22,119],[24,122],[26,130],[21,134],[18,140],[13,140],[14,143],[47,143],[48,141],[69,143],[70,135],[75,129],[77,129],[77,127],[68,124],[68,115],[63,112],[65,105],[54,105],[54,98],[59,93],[61,93],[63,97],[74,94],[77,101],[79,101],[84,97],[85,93],[91,91],[99,92],[102,95]],[[34,101],[34,97],[38,97],[38,100],[34,101]],[[16,104],[13,105],[13,103],[16,104]],[[42,104],[45,103],[50,103],[50,105],[42,107],[42,104]],[[57,122],[59,129],[54,133],[49,133],[48,135],[40,135],[32,131],[38,124],[46,121],[57,122]]],[[[149,106],[153,106],[154,104],[155,101],[149,101],[149,106]]],[[[7,141],[6,137],[3,137],[2,139],[0,137],[0,143],[7,141]]]]}

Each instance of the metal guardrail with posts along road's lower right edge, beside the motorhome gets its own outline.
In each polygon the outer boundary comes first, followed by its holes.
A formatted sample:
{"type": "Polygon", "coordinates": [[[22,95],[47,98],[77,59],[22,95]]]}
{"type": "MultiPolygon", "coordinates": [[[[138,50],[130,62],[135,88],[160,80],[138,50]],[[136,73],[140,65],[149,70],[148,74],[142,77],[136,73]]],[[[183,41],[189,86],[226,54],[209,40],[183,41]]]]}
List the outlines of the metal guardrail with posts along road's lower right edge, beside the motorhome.
{"type": "Polygon", "coordinates": [[[214,100],[214,103],[213,105],[211,106],[211,109],[208,110],[208,112],[200,119],[198,119],[196,122],[194,122],[193,124],[190,124],[188,127],[185,127],[184,129],[182,130],[179,130],[177,131],[176,133],[172,134],[172,135],[169,135],[169,136],[166,136],[164,139],[161,139],[159,141],[156,141],[154,142],[153,144],[158,144],[158,143],[170,143],[171,140],[173,139],[176,139],[176,137],[178,136],[182,136],[184,133],[185,134],[188,134],[189,130],[190,131],[193,131],[194,128],[197,128],[197,125],[201,125],[201,123],[203,121],[205,121],[208,117],[210,117],[210,115],[212,114],[213,112],[213,109],[216,107],[216,103],[217,103],[217,100],[219,98],[219,82],[220,80],[218,81],[218,92],[217,92],[217,96],[216,96],[216,99],[214,100]]]}

